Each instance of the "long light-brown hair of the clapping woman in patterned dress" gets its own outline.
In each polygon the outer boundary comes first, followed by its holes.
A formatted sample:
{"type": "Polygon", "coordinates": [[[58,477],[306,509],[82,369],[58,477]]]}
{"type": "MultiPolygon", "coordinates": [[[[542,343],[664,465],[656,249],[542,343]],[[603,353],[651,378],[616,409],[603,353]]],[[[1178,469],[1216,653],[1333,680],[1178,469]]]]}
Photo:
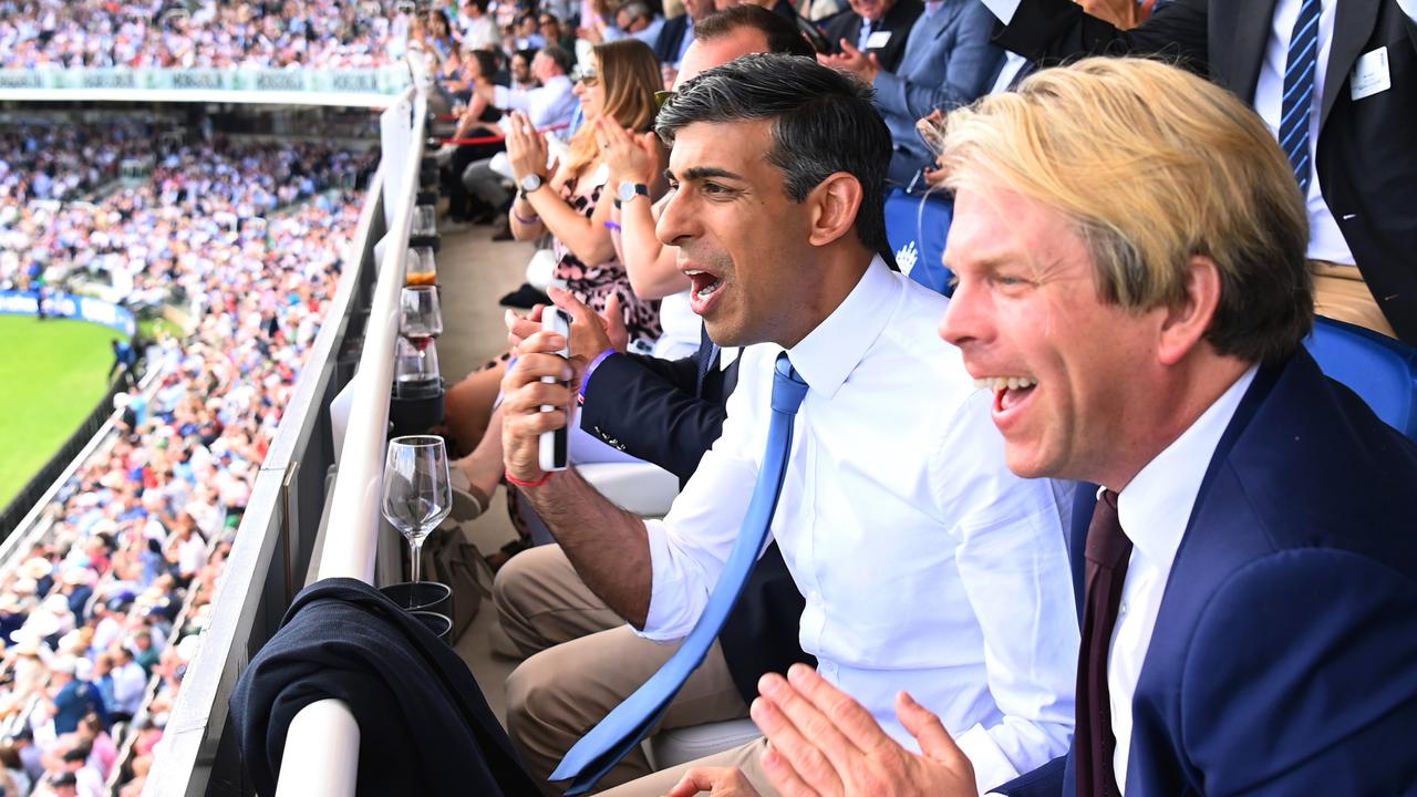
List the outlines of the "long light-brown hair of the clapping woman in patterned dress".
{"type": "MultiPolygon", "coordinates": [[[[598,44],[595,69],[605,87],[604,116],[615,119],[632,132],[645,132],[653,126],[655,92],[665,88],[659,72],[659,60],[648,44],[638,38],[622,38],[609,44],[598,44]]],[[[585,169],[599,155],[595,143],[595,125],[587,121],[571,138],[567,167],[574,173],[585,169]]]]}

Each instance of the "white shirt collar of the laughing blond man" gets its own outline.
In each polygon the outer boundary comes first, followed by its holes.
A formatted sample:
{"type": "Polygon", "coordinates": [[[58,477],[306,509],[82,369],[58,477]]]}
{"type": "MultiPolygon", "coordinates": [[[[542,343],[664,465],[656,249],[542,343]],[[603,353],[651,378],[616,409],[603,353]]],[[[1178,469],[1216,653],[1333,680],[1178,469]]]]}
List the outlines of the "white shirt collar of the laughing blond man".
{"type": "Polygon", "coordinates": [[[1158,566],[1169,569],[1176,559],[1210,458],[1258,370],[1258,366],[1250,366],[1117,495],[1117,519],[1122,532],[1142,556],[1158,566]]]}

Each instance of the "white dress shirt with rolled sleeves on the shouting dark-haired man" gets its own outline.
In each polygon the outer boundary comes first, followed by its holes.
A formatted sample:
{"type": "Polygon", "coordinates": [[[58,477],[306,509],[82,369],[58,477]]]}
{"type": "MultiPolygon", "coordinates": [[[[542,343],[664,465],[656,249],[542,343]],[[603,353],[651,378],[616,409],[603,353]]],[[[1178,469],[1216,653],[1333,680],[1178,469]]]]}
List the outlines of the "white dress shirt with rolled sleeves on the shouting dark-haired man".
{"type": "MultiPolygon", "coordinates": [[[[806,380],[771,525],[806,598],[802,650],[913,750],[901,689],[938,713],[981,787],[1067,750],[1078,627],[1063,485],[1013,476],[959,350],[948,299],[879,258],[788,352],[806,380]]],[[[649,520],[643,635],[684,637],[738,536],[769,423],[772,363],[750,346],[723,437],[649,520]]]]}

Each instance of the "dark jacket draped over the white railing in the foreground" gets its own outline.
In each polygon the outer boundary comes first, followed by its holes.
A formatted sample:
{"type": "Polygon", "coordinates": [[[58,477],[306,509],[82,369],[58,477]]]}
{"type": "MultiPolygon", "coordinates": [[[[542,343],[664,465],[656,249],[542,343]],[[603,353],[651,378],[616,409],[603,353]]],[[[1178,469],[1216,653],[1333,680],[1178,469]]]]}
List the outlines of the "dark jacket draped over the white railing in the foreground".
{"type": "Polygon", "coordinates": [[[359,794],[537,794],[468,665],[378,590],[326,579],[295,596],[231,692],[256,794],[275,794],[290,720],[339,698],[359,720],[359,794]]]}

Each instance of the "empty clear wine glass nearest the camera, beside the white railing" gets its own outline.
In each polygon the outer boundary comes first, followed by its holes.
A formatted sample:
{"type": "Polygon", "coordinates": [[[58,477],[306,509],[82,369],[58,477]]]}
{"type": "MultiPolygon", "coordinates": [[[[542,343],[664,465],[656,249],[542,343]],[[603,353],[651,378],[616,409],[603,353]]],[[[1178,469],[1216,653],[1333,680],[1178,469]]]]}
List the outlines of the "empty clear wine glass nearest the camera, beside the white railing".
{"type": "Polygon", "coordinates": [[[418,583],[424,539],[452,511],[448,450],[441,437],[388,441],[384,462],[384,518],[408,540],[412,581],[418,583]]]}

